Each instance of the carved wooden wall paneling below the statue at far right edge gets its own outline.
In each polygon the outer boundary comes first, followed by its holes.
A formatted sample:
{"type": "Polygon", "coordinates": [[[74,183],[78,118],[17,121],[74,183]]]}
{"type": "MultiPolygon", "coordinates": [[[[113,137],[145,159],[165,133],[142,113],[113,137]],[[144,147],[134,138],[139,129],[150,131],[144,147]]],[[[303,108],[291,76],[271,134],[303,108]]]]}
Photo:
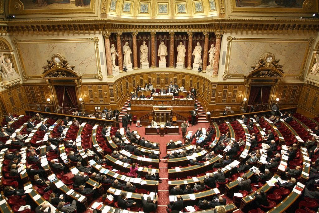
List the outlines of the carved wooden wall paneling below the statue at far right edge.
{"type": "Polygon", "coordinates": [[[302,87],[298,112],[309,116],[315,117],[319,115],[319,88],[305,84],[302,87]]]}

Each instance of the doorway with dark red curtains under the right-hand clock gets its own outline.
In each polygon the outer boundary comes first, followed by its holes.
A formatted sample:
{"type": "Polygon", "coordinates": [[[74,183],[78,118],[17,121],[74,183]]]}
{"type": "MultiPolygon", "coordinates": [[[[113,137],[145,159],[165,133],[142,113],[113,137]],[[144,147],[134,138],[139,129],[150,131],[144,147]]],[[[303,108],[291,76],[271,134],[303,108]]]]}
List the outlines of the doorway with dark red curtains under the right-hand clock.
{"type": "Polygon", "coordinates": [[[248,112],[267,110],[272,85],[251,85],[248,112]]]}

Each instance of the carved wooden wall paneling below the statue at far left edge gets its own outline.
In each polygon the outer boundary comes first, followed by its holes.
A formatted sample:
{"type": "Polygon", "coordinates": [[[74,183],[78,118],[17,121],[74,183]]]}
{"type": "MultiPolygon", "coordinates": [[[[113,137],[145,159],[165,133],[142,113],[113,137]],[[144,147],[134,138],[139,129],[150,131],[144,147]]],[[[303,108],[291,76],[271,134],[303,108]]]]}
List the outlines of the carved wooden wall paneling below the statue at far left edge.
{"type": "Polygon", "coordinates": [[[23,85],[10,87],[10,89],[2,91],[0,97],[1,116],[5,116],[7,113],[22,113],[28,107],[23,85]]]}

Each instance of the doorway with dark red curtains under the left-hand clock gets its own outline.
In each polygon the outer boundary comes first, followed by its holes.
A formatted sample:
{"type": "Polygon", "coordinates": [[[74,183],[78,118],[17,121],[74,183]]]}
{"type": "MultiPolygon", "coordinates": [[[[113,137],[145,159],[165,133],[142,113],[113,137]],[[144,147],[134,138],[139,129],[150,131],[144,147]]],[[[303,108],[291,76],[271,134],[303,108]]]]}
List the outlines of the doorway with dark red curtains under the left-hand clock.
{"type": "Polygon", "coordinates": [[[54,86],[56,100],[59,107],[63,107],[58,113],[69,115],[74,108],[78,108],[78,98],[75,85],[54,86]],[[67,107],[67,108],[65,108],[67,107]]]}

